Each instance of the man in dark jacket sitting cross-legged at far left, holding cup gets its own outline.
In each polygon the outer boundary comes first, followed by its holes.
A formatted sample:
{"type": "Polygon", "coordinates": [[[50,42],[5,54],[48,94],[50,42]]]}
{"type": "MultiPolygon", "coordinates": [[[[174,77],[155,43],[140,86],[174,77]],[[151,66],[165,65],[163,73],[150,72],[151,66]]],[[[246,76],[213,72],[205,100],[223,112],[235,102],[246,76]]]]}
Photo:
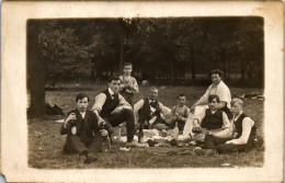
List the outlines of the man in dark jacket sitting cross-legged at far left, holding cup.
{"type": "Polygon", "coordinates": [[[103,137],[106,129],[99,128],[94,113],[87,110],[89,96],[79,93],[76,96],[77,108],[68,112],[60,134],[66,135],[65,153],[77,153],[79,163],[89,163],[96,160],[95,152],[101,151],[103,137]]]}

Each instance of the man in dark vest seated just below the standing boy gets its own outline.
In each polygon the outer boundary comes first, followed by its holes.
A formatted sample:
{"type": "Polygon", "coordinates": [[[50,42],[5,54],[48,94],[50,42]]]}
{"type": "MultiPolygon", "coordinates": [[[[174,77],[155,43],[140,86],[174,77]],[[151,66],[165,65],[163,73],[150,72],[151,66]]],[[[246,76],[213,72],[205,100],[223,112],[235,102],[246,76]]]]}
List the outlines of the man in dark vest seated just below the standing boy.
{"type": "Polygon", "coordinates": [[[121,80],[118,77],[111,77],[109,89],[95,96],[95,103],[91,111],[95,114],[99,123],[111,124],[113,127],[126,122],[127,142],[126,147],[145,147],[134,140],[135,116],[133,107],[118,93],[121,80]]]}

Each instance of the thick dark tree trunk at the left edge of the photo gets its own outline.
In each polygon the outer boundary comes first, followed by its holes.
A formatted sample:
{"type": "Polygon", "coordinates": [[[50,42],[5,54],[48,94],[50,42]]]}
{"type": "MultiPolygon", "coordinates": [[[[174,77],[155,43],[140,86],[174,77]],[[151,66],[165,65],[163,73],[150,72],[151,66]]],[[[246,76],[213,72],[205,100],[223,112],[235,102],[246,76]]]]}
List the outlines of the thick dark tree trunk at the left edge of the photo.
{"type": "Polygon", "coordinates": [[[38,45],[39,22],[29,22],[27,75],[30,76],[31,106],[29,117],[45,114],[45,64],[38,45]]]}

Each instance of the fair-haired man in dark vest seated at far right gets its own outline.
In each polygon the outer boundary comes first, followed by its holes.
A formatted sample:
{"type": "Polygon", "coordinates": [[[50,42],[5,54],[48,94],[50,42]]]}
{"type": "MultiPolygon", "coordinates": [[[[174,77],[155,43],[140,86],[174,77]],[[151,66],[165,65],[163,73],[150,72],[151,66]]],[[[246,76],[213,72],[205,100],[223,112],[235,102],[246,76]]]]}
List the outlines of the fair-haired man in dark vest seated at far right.
{"type": "Polygon", "coordinates": [[[231,100],[233,135],[230,138],[218,138],[209,133],[204,141],[206,153],[249,151],[262,145],[262,138],[256,136],[254,121],[242,112],[242,107],[243,102],[240,99],[231,100]]]}

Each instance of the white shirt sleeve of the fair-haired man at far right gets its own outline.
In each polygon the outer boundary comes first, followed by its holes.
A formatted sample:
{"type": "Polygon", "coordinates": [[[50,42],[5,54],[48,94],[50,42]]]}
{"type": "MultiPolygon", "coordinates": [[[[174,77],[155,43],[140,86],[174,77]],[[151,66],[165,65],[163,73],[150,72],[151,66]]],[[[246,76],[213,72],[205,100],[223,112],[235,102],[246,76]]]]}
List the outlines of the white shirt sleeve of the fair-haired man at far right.
{"type": "Polygon", "coordinates": [[[249,136],[251,133],[251,128],[254,125],[254,122],[250,117],[244,117],[242,121],[242,134],[240,138],[232,139],[228,141],[228,144],[235,144],[235,145],[246,145],[249,140],[249,136]]]}

